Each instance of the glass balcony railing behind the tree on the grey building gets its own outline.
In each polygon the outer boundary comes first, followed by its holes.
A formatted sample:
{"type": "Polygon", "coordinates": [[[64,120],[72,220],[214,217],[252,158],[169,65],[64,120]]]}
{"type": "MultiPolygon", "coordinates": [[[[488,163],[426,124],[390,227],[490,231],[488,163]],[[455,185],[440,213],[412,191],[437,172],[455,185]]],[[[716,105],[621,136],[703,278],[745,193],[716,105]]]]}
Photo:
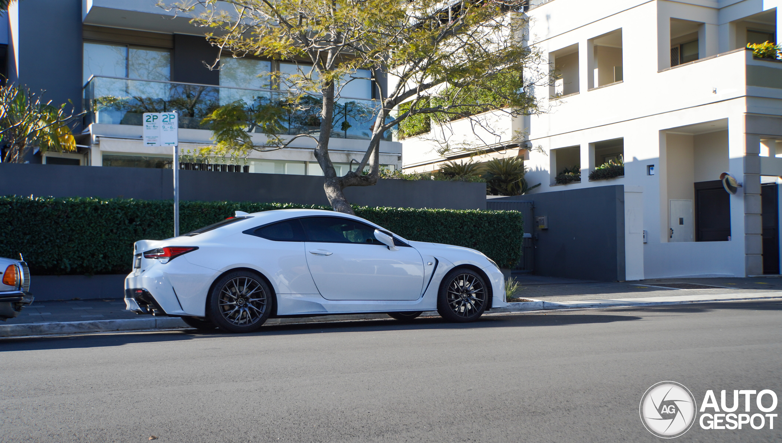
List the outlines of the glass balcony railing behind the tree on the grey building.
{"type": "MultiPolygon", "coordinates": [[[[92,123],[141,126],[145,112],[177,110],[180,128],[210,129],[210,124],[203,123],[203,119],[221,106],[243,100],[246,110],[252,113],[260,106],[275,103],[282,106],[285,94],[273,90],[93,76],[84,86],[84,109],[87,110],[84,123],[85,126],[92,123]]],[[[317,95],[307,95],[300,100],[296,110],[282,113],[279,117],[280,126],[284,128],[282,135],[310,134],[317,137],[321,124],[319,103],[317,95]]],[[[331,137],[370,139],[378,106],[377,100],[337,100],[331,137]]],[[[252,131],[262,132],[259,128],[252,131]]],[[[382,139],[390,141],[390,131],[386,131],[382,139]]]]}

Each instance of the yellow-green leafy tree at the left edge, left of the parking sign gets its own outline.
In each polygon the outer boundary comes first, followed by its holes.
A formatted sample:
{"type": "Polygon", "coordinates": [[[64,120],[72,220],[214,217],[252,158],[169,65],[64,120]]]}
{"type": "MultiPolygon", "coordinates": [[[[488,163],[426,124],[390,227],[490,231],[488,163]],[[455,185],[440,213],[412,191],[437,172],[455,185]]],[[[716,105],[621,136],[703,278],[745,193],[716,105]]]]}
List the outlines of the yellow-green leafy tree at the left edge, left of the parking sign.
{"type": "Polygon", "coordinates": [[[34,146],[41,151],[75,152],[76,140],[69,124],[83,113],[66,113],[65,106],[44,103],[42,92],[0,86],[0,142],[5,145],[2,161],[23,163],[34,146]]]}

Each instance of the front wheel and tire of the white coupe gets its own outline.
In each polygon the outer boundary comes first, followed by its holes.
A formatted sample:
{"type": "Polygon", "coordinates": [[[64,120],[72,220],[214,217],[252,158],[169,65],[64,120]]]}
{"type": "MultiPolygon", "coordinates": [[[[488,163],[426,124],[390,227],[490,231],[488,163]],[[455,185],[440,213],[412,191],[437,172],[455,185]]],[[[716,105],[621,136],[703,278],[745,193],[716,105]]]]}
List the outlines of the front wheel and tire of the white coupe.
{"type": "Polygon", "coordinates": [[[437,294],[437,312],[449,322],[475,322],[489,304],[489,288],[478,272],[457,268],[443,278],[437,294]]]}

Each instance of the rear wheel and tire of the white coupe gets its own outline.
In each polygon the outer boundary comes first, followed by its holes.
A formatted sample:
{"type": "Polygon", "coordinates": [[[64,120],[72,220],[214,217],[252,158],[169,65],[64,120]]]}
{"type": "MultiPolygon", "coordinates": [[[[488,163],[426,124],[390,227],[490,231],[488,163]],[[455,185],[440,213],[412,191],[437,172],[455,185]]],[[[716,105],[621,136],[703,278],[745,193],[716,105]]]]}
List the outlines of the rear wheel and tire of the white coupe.
{"type": "Polygon", "coordinates": [[[255,272],[228,272],[214,284],[206,316],[221,330],[251,333],[269,318],[273,303],[274,292],[255,272]]]}

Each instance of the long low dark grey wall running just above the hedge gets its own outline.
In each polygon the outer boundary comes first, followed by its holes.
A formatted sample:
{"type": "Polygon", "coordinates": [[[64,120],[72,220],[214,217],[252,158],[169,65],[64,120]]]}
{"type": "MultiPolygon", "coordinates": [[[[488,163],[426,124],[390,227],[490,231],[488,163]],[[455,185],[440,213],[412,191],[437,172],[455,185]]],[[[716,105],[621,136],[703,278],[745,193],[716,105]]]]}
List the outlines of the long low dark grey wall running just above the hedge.
{"type": "MultiPolygon", "coordinates": [[[[0,163],[0,196],[84,196],[167,200],[173,171],[142,167],[0,163]]],[[[181,171],[181,200],[328,204],[323,178],[312,175],[181,171]]],[[[345,189],[350,203],[389,207],[485,209],[486,185],[433,180],[379,180],[345,189]]]]}

